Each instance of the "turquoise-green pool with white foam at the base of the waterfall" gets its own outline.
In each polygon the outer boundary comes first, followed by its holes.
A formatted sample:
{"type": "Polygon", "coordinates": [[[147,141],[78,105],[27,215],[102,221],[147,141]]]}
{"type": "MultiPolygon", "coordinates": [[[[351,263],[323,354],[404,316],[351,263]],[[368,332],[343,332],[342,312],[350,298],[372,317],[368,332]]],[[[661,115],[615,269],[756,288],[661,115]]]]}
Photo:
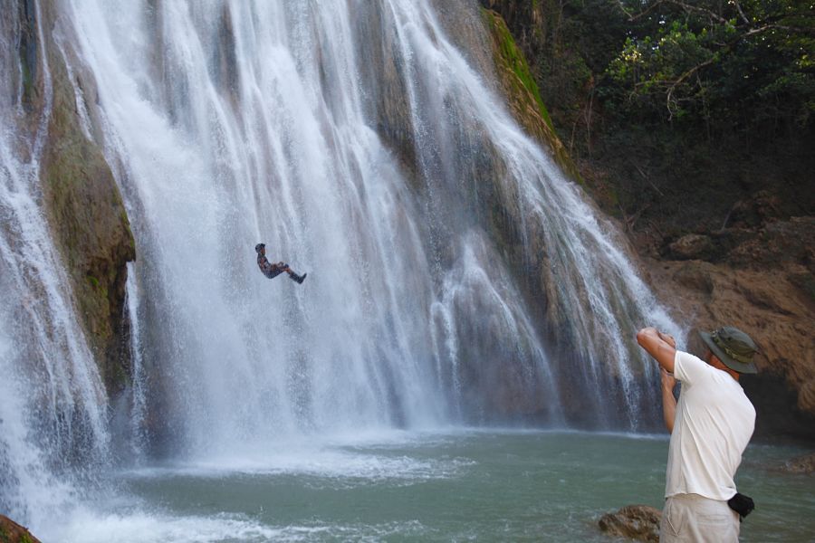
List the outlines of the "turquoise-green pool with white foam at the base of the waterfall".
{"type": "MultiPolygon", "coordinates": [[[[289,443],[117,474],[64,541],[609,541],[599,517],[659,507],[667,440],[597,433],[386,433],[289,443]]],[[[743,541],[815,539],[815,478],[773,470],[807,451],[751,445],[743,541]]],[[[56,537],[59,534],[60,537],[56,537]]]]}

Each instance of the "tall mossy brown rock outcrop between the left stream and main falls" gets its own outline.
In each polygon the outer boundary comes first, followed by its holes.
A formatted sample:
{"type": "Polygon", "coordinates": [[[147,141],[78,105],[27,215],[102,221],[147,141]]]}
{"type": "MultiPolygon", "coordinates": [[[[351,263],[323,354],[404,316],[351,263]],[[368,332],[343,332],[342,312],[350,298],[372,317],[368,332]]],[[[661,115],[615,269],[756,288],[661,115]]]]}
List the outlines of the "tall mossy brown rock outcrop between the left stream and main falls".
{"type": "Polygon", "coordinates": [[[43,3],[40,11],[32,2],[16,6],[24,111],[37,138],[44,130],[43,205],[91,350],[112,393],[129,375],[124,299],[126,264],[136,257],[135,243],[110,167],[91,139],[91,123],[83,125],[81,100],[93,100],[91,78],[69,72],[65,55],[71,52],[51,32],[57,5],[43,3]]]}

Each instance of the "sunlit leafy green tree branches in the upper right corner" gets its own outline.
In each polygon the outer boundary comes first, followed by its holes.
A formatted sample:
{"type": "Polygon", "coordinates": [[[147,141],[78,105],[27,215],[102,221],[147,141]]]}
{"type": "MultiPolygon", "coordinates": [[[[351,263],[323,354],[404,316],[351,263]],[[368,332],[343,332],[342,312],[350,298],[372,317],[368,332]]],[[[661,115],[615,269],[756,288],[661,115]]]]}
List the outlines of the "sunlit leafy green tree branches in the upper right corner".
{"type": "Polygon", "coordinates": [[[618,114],[708,129],[812,127],[813,0],[615,0],[628,37],[602,92],[618,114]]]}

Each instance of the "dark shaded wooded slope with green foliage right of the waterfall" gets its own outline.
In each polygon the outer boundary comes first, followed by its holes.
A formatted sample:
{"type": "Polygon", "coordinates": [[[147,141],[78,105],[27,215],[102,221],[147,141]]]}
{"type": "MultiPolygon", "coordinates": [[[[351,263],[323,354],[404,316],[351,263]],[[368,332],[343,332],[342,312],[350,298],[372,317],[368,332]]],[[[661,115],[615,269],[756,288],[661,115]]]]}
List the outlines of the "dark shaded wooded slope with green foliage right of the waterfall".
{"type": "Polygon", "coordinates": [[[815,214],[811,0],[496,0],[586,186],[638,243],[769,191],[815,214]]]}

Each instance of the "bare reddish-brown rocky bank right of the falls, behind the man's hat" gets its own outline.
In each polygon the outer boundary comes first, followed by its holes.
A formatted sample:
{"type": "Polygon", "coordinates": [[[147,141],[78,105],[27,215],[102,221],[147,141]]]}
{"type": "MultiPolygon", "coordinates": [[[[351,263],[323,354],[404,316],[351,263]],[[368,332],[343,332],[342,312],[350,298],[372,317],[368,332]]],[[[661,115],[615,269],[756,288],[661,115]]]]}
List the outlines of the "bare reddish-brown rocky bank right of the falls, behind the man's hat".
{"type": "Polygon", "coordinates": [[[688,234],[666,243],[662,259],[645,259],[655,289],[692,329],[731,323],[756,340],[760,373],[741,382],[766,437],[811,437],[815,427],[813,247],[815,218],[793,217],[688,234]]]}

